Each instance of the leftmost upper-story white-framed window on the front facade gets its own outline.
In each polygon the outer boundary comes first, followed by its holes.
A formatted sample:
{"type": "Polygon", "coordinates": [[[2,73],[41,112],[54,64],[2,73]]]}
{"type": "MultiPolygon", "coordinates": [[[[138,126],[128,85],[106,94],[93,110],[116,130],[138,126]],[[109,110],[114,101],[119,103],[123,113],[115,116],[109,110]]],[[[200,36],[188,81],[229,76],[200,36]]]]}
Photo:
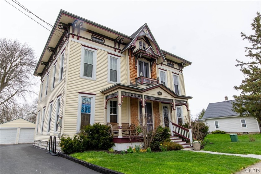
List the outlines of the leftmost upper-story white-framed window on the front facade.
{"type": "Polygon", "coordinates": [[[96,79],[96,56],[97,50],[82,47],[80,77],[86,79],[96,79]]]}

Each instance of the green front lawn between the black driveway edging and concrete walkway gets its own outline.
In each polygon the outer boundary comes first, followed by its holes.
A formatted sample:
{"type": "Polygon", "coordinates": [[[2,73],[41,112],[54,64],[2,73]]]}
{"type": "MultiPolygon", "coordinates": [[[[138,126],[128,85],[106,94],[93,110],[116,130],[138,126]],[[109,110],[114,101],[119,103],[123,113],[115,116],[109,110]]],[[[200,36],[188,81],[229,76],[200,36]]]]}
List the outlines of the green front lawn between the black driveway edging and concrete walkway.
{"type": "Polygon", "coordinates": [[[191,151],[167,151],[156,153],[113,154],[86,151],[71,154],[72,157],[106,167],[131,173],[234,173],[246,168],[259,159],[228,155],[214,155],[191,151]]]}

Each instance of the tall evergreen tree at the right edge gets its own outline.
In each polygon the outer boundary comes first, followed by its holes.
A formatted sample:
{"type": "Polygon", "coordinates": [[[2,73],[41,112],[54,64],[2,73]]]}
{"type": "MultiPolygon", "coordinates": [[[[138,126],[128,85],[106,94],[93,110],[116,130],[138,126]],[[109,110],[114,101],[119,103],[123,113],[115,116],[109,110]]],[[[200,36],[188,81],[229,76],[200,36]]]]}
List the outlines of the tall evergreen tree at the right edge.
{"type": "Polygon", "coordinates": [[[241,33],[243,40],[248,40],[251,47],[245,47],[245,56],[250,60],[248,62],[238,63],[240,71],[244,74],[245,79],[242,84],[234,86],[235,90],[241,91],[239,96],[234,95],[236,102],[233,103],[233,110],[238,112],[240,116],[247,115],[255,117],[261,123],[261,15],[257,12],[251,24],[252,30],[255,31],[253,35],[246,36],[241,33]]]}

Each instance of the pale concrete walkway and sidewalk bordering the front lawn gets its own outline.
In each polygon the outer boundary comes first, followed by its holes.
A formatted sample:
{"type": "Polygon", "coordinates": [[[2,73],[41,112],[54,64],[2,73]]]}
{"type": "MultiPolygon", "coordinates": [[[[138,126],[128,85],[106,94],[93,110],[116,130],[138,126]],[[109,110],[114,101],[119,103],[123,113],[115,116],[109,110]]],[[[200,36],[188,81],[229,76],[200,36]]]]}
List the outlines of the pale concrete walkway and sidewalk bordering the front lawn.
{"type": "MultiPolygon", "coordinates": [[[[211,151],[205,151],[205,150],[191,150],[193,152],[202,152],[202,153],[211,153],[211,154],[218,154],[218,155],[233,155],[233,156],[240,156],[240,157],[246,157],[246,158],[257,158],[261,160],[261,155],[255,155],[255,154],[233,154],[233,153],[219,153],[219,152],[211,152],[211,151]]],[[[242,169],[241,171],[237,172],[236,174],[261,174],[261,162],[255,163],[252,166],[246,167],[245,169],[242,169]]]]}

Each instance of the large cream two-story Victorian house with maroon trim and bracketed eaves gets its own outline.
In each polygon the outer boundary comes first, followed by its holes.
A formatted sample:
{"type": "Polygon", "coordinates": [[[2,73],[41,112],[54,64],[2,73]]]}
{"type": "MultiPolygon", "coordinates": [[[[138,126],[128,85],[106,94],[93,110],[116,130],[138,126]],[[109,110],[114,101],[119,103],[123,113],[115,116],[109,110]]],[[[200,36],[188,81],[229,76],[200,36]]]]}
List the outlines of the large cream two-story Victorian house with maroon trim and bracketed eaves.
{"type": "Polygon", "coordinates": [[[160,49],[147,24],[127,36],[61,10],[34,71],[41,77],[35,144],[97,122],[118,123],[120,141],[121,124],[138,126],[145,113],[151,129],[159,119],[186,122],[192,97],[182,72],[190,64],[160,49]]]}

